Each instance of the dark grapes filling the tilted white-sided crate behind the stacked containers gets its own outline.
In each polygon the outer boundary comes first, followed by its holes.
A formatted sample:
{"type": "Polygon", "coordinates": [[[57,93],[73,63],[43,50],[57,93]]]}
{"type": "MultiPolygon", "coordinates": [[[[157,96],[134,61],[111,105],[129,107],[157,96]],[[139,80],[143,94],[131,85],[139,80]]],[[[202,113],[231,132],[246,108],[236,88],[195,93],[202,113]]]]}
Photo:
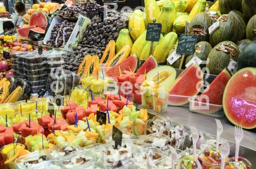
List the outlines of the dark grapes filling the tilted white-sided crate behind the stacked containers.
{"type": "Polygon", "coordinates": [[[46,43],[51,47],[56,47],[56,48],[61,47],[64,42],[63,37],[65,36],[64,37],[65,43],[67,43],[75,27],[75,24],[76,24],[75,22],[68,22],[67,20],[64,21],[63,25],[62,25],[62,22],[56,24],[52,29],[52,35],[50,39],[47,40],[46,43]],[[67,28],[64,30],[65,27],[67,28]],[[58,37],[58,34],[59,34],[59,37],[58,37]],[[57,44],[55,44],[57,37],[58,37],[57,44]]]}

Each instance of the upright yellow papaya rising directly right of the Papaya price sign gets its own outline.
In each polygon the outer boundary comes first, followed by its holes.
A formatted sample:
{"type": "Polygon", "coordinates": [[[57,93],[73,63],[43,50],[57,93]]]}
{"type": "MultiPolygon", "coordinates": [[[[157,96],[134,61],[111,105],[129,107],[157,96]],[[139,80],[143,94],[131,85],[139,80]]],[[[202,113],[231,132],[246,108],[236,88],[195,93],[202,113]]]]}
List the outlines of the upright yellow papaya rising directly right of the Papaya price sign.
{"type": "Polygon", "coordinates": [[[164,32],[165,34],[168,34],[173,30],[175,17],[176,17],[176,10],[174,6],[174,2],[169,0],[162,7],[161,12],[159,13],[156,19],[156,23],[161,23],[162,24],[161,31],[164,32]]]}

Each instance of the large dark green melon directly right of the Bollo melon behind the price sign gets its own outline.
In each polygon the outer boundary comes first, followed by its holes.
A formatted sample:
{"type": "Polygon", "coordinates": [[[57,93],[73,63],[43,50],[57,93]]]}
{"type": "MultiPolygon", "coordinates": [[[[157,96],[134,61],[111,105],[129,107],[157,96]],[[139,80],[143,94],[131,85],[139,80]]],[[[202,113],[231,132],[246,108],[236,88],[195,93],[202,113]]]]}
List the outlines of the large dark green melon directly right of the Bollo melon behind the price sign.
{"type": "Polygon", "coordinates": [[[221,15],[219,18],[219,27],[210,35],[211,46],[216,46],[223,41],[237,43],[240,37],[240,26],[236,17],[233,15],[221,15]]]}

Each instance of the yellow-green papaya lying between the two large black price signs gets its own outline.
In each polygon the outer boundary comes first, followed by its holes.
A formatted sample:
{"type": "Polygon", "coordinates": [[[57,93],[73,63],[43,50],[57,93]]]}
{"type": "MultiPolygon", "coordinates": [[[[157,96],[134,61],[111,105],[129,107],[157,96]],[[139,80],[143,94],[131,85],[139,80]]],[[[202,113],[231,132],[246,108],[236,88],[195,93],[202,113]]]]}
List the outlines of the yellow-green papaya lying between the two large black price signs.
{"type": "Polygon", "coordinates": [[[170,32],[159,41],[153,53],[153,56],[155,57],[157,62],[166,61],[170,50],[174,47],[174,44],[177,41],[177,37],[178,36],[176,33],[170,32]]]}

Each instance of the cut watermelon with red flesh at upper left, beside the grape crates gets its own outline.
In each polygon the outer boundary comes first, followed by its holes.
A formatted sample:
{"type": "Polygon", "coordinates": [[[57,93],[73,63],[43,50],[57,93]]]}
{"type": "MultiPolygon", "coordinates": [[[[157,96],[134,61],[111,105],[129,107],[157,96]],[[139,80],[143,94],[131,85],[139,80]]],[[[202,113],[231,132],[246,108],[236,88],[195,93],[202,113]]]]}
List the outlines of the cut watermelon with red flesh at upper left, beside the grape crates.
{"type": "MultiPolygon", "coordinates": [[[[46,27],[48,25],[49,17],[46,15],[45,12],[37,11],[31,14],[28,26],[37,26],[44,30],[46,30],[46,27]]],[[[27,34],[28,35],[28,34],[27,34]]]]}

